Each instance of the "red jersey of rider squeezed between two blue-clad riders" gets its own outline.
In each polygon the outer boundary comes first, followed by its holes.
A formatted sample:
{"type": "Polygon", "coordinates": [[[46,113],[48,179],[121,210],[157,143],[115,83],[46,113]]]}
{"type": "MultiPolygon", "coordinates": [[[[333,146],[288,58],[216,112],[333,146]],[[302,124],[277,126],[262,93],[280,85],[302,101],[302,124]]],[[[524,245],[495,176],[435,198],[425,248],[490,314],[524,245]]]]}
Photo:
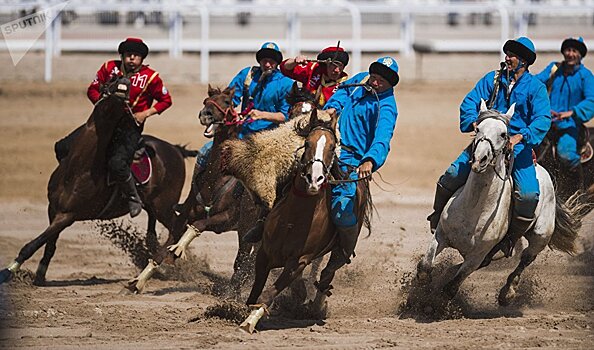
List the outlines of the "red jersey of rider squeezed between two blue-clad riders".
{"type": "Polygon", "coordinates": [[[317,62],[308,62],[306,64],[298,64],[292,71],[285,68],[283,61],[280,65],[281,72],[291,79],[300,81],[305,88],[318,98],[318,104],[323,106],[334,95],[338,89],[338,85],[348,79],[348,75],[342,72],[338,81],[326,82],[324,73],[326,66],[317,62]]]}

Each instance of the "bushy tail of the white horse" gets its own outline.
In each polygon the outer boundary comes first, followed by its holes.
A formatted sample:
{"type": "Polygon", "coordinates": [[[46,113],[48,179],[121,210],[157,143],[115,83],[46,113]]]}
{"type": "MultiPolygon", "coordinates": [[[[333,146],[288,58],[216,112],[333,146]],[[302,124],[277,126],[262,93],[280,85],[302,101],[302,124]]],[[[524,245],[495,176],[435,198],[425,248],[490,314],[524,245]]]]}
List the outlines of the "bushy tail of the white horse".
{"type": "Polygon", "coordinates": [[[569,255],[576,253],[575,240],[582,227],[582,219],[592,209],[592,205],[583,200],[584,194],[576,192],[561,203],[557,198],[555,207],[555,231],[549,242],[551,249],[557,249],[569,255]]]}

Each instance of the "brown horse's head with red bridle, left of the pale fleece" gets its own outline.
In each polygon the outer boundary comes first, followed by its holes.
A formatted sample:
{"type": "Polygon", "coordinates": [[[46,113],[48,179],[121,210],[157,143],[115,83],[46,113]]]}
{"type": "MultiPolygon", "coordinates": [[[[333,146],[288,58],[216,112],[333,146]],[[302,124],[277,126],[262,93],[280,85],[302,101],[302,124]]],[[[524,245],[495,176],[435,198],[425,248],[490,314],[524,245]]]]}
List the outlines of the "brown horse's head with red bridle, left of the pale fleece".
{"type": "Polygon", "coordinates": [[[213,89],[208,86],[208,97],[204,100],[204,107],[198,114],[200,124],[206,127],[204,136],[214,137],[220,125],[236,123],[239,120],[233,109],[233,95],[235,88],[213,89]]]}

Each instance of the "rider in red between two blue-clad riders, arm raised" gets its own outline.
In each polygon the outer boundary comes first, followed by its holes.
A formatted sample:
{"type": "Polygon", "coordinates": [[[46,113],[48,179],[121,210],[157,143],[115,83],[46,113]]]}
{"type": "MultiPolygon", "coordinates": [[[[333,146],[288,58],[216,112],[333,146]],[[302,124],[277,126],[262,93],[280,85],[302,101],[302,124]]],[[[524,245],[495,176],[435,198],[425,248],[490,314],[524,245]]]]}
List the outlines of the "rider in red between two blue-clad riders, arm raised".
{"type": "Polygon", "coordinates": [[[300,55],[284,60],[280,70],[289,78],[303,83],[322,107],[336,92],[339,84],[348,79],[344,68],[349,63],[349,54],[341,47],[330,46],[318,54],[316,61],[312,62],[307,56],[300,55]]]}

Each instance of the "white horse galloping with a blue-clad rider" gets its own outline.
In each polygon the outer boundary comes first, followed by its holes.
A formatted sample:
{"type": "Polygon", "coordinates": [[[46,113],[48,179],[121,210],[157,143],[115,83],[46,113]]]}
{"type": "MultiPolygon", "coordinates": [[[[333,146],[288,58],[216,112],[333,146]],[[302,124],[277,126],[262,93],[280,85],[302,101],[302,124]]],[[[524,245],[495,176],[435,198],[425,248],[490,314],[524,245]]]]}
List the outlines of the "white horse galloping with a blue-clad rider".
{"type": "MultiPolygon", "coordinates": [[[[477,133],[473,141],[472,172],[445,206],[434,239],[417,266],[420,281],[430,279],[435,257],[447,247],[464,258],[456,275],[442,292],[452,299],[462,282],[480,268],[487,254],[507,232],[511,219],[513,184],[511,166],[506,162],[509,142],[507,126],[515,104],[505,113],[488,110],[481,101],[477,133]]],[[[557,202],[553,183],[547,171],[536,165],[540,199],[533,226],[525,234],[528,247],[522,252],[518,267],[509,275],[499,292],[499,304],[507,305],[515,295],[522,271],[530,265],[547,244],[569,254],[575,252],[574,241],[581,225],[576,210],[557,202]]]]}

